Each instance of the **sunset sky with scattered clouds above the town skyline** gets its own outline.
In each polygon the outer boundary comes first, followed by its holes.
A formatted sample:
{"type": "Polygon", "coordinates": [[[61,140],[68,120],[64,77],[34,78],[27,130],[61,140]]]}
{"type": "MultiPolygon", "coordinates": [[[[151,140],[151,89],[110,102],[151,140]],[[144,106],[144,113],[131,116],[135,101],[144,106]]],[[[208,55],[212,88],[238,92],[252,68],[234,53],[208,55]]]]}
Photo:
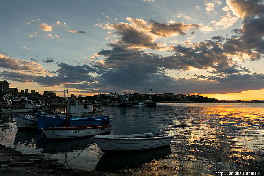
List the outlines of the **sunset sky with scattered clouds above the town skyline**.
{"type": "Polygon", "coordinates": [[[0,20],[19,91],[264,100],[260,0],[1,1],[0,20]]]}

